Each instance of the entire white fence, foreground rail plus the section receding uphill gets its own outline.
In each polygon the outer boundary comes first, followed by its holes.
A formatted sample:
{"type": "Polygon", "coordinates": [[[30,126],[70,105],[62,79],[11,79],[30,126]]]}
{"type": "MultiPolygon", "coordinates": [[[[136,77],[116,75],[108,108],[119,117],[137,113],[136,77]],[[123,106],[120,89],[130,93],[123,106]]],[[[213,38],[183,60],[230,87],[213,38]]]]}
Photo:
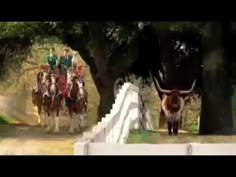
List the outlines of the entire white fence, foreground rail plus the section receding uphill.
{"type": "Polygon", "coordinates": [[[125,83],[111,112],[102,118],[82,141],[75,143],[75,155],[236,155],[236,144],[125,144],[133,128],[152,129],[148,110],[138,87],[125,83]]]}

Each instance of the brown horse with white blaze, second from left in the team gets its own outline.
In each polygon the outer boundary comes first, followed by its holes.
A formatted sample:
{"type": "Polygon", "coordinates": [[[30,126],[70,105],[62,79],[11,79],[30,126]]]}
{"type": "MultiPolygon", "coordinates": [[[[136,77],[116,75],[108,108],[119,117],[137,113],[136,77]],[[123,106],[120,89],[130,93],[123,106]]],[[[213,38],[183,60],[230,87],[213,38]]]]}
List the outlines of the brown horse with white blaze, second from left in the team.
{"type": "Polygon", "coordinates": [[[48,116],[47,132],[54,129],[59,132],[59,113],[62,104],[62,95],[58,86],[58,77],[54,73],[48,75],[47,90],[44,92],[45,110],[48,116]]]}

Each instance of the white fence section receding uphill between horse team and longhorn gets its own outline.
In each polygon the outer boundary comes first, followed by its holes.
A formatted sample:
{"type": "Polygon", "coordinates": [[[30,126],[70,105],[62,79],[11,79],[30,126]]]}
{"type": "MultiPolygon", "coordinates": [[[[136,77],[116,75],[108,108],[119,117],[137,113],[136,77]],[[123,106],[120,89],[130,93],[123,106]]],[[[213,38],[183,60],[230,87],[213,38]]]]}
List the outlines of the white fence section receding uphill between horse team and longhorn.
{"type": "Polygon", "coordinates": [[[107,114],[90,132],[85,132],[82,142],[75,149],[83,151],[85,142],[125,143],[133,128],[152,129],[150,114],[143,109],[139,96],[139,88],[125,83],[119,90],[111,112],[107,114]]]}

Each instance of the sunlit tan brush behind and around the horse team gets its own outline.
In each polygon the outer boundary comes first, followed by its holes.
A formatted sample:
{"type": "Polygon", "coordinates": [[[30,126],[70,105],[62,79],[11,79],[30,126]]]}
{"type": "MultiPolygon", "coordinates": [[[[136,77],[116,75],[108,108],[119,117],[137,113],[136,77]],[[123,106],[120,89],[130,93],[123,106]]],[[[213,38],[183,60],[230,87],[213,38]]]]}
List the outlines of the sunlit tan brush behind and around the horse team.
{"type": "MultiPolygon", "coordinates": [[[[39,72],[39,65],[46,62],[49,48],[54,47],[57,55],[63,54],[63,49],[66,47],[60,43],[54,43],[55,39],[47,45],[34,44],[32,53],[29,55],[27,61],[23,62],[20,73],[16,73],[9,69],[5,81],[1,81],[0,95],[10,96],[12,103],[8,103],[10,117],[17,118],[23,123],[33,125],[37,123],[37,118],[32,104],[31,90],[36,81],[36,75],[39,72]],[[13,104],[14,102],[14,104],[13,104]],[[11,105],[13,104],[13,105],[11,105]],[[17,105],[17,106],[16,106],[17,105]]],[[[57,41],[58,42],[58,41],[57,41]]],[[[71,50],[72,52],[72,50],[71,50]]],[[[78,55],[79,63],[84,65],[84,81],[86,89],[88,90],[88,123],[94,124],[97,121],[99,94],[90,74],[89,66],[78,55]]],[[[65,121],[64,121],[65,122],[65,121]]]]}

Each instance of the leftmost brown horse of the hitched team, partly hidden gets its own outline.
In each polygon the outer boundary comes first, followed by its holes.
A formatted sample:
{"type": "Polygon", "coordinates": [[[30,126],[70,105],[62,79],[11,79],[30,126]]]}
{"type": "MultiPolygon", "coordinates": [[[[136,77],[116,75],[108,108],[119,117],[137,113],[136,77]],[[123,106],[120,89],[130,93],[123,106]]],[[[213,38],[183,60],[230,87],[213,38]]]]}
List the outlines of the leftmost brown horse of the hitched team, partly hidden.
{"type": "Polygon", "coordinates": [[[43,93],[46,91],[46,77],[47,72],[46,71],[40,71],[37,74],[36,83],[34,85],[34,88],[32,89],[32,103],[37,108],[37,116],[38,116],[38,124],[41,126],[44,126],[46,124],[46,112],[45,107],[43,103],[43,93]],[[44,110],[44,120],[42,116],[42,110],[44,110]]]}

